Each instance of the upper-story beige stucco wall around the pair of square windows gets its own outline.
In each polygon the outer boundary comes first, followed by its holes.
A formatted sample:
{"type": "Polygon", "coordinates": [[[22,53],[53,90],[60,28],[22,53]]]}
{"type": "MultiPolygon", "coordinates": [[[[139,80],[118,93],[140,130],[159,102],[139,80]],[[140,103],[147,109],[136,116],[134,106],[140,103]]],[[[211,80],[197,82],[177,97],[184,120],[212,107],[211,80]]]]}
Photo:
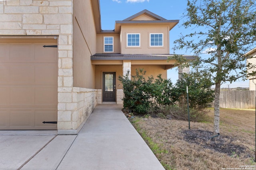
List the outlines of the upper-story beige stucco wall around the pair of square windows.
{"type": "Polygon", "coordinates": [[[169,27],[160,26],[121,26],[121,53],[122,54],[169,54],[169,27]],[[140,47],[127,47],[127,33],[140,33],[140,47]],[[164,46],[150,47],[150,33],[163,33],[164,46]]]}

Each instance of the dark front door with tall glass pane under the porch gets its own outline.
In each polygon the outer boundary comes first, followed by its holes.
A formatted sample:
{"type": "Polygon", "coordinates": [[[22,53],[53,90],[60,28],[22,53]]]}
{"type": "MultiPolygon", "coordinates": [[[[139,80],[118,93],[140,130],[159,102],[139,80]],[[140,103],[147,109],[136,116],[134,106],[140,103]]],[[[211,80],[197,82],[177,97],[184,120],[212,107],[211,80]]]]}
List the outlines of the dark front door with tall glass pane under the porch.
{"type": "Polygon", "coordinates": [[[116,102],[116,73],[103,72],[102,102],[116,102]]]}

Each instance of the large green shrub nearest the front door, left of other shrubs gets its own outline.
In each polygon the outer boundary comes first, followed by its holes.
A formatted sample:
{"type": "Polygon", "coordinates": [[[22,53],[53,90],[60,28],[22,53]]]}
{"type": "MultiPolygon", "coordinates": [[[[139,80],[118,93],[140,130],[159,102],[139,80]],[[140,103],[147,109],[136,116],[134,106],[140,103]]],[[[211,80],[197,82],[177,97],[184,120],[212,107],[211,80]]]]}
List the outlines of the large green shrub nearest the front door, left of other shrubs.
{"type": "Polygon", "coordinates": [[[147,114],[150,107],[160,107],[172,104],[170,100],[172,82],[164,80],[159,74],[156,80],[153,76],[148,79],[144,78],[146,71],[139,68],[136,74],[131,76],[129,80],[127,72],[126,76],[119,76],[124,89],[124,107],[144,115],[147,114]]]}

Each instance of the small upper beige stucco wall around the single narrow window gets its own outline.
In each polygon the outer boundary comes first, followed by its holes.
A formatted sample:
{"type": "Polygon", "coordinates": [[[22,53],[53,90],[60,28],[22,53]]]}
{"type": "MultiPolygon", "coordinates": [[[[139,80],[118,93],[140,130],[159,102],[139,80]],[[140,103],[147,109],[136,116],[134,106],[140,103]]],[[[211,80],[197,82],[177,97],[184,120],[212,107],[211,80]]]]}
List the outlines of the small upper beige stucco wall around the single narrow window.
{"type": "Polygon", "coordinates": [[[104,53],[104,38],[103,37],[114,37],[114,52],[121,53],[120,50],[120,35],[119,34],[98,34],[97,35],[97,51],[96,53],[104,53]]]}

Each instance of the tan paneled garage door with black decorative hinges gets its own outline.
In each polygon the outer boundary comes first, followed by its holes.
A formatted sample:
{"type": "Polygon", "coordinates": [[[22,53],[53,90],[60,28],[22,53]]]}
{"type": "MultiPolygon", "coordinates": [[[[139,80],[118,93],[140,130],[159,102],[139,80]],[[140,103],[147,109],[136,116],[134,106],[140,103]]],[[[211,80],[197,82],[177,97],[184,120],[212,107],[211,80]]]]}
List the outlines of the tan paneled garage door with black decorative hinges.
{"type": "Polygon", "coordinates": [[[42,123],[57,121],[56,45],[53,37],[0,37],[1,130],[57,129],[42,123]]]}

